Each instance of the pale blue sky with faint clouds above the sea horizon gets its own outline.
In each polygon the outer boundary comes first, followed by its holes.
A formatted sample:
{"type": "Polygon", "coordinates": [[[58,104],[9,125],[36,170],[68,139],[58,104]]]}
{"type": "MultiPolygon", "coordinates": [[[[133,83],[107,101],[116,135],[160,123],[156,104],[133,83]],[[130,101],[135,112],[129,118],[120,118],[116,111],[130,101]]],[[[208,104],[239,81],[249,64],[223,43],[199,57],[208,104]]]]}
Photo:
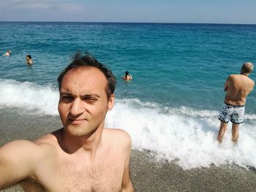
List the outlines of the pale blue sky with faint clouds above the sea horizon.
{"type": "Polygon", "coordinates": [[[0,0],[0,21],[256,24],[255,0],[0,0]]]}

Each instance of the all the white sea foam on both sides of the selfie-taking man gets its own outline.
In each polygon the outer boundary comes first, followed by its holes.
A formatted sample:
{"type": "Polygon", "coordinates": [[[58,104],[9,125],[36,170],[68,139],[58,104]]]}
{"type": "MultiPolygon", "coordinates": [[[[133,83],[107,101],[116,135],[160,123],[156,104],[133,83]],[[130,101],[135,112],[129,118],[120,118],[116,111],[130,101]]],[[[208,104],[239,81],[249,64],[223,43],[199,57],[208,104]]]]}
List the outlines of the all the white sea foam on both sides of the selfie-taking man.
{"type": "MultiPolygon", "coordinates": [[[[59,92],[52,85],[0,79],[0,107],[18,107],[39,115],[58,115],[59,92]]],[[[211,164],[256,167],[256,115],[246,115],[237,145],[231,142],[231,124],[222,144],[217,142],[218,111],[165,107],[139,99],[116,99],[106,127],[121,128],[132,138],[132,148],[149,150],[157,160],[175,161],[183,169],[211,164]],[[249,123],[246,123],[249,122],[249,123]]]]}

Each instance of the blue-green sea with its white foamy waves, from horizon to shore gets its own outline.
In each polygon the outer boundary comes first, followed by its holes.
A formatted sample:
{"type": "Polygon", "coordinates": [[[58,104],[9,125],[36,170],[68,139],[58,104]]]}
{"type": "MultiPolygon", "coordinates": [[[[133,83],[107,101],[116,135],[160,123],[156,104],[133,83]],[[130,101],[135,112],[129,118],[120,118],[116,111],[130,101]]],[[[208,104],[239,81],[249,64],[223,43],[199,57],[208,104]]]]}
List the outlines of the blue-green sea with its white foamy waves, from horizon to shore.
{"type": "MultiPolygon", "coordinates": [[[[88,51],[118,79],[106,126],[127,131],[132,148],[183,169],[256,168],[255,91],[238,144],[230,141],[231,124],[217,142],[223,85],[245,61],[256,63],[256,25],[0,22],[0,31],[1,55],[12,50],[0,57],[0,114],[18,115],[20,122],[26,115],[59,118],[56,79],[76,51],[88,51]],[[131,82],[121,80],[127,70],[131,82]]],[[[256,80],[255,72],[250,77],[256,80]]],[[[6,123],[0,118],[0,130],[6,123]]]]}

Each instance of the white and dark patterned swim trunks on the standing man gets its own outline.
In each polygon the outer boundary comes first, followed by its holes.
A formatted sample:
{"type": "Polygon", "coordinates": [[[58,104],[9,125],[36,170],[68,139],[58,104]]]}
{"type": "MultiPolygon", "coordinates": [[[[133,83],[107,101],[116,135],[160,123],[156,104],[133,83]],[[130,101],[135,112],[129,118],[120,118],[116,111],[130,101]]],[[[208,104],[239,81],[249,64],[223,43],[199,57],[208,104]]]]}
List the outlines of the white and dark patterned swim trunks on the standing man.
{"type": "Polygon", "coordinates": [[[244,105],[232,105],[224,102],[219,112],[219,120],[224,123],[229,121],[236,124],[243,123],[244,109],[244,105]]]}

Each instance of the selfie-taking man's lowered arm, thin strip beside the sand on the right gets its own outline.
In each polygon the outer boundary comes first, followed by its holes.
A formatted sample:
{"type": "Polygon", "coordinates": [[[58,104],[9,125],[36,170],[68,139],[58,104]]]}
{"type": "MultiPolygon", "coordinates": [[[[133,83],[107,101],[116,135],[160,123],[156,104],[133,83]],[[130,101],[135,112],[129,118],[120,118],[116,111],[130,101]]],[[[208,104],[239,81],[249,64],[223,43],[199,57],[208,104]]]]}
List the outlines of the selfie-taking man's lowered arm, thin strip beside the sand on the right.
{"type": "Polygon", "coordinates": [[[127,159],[126,159],[125,165],[124,165],[124,174],[123,174],[123,179],[122,179],[122,184],[121,184],[121,191],[122,192],[133,192],[134,188],[132,186],[132,181],[129,177],[129,157],[131,155],[131,150],[132,150],[131,139],[130,139],[129,135],[128,135],[127,140],[128,140],[127,141],[128,145],[127,145],[127,149],[126,149],[127,159]]]}

